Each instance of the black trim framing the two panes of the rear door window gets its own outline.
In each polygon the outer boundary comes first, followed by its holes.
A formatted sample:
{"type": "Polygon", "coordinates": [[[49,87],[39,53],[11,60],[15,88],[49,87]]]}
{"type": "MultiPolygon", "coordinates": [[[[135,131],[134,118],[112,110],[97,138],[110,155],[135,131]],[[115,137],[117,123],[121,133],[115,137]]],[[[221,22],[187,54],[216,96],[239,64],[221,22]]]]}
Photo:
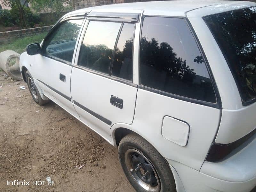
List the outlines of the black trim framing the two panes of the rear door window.
{"type": "MultiPolygon", "coordinates": [[[[85,33],[87,31],[87,28],[88,28],[88,25],[90,23],[91,20],[88,19],[88,22],[86,24],[86,26],[84,26],[85,30],[84,30],[84,34],[81,34],[81,37],[82,38],[82,43],[84,41],[84,36],[85,36],[85,33]]],[[[106,77],[108,79],[111,79],[111,80],[114,80],[114,81],[117,81],[117,82],[120,82],[120,83],[123,83],[123,84],[127,84],[127,85],[130,85],[132,87],[138,87],[137,84],[134,84],[133,83],[133,52],[134,52],[134,42],[133,42],[133,45],[132,45],[132,80],[127,80],[127,79],[124,79],[124,78],[121,78],[121,77],[117,77],[117,76],[114,76],[112,75],[112,67],[113,67],[113,54],[114,52],[116,51],[116,46],[117,46],[117,43],[118,43],[118,40],[119,40],[119,37],[120,37],[120,34],[122,32],[122,28],[123,28],[123,25],[124,23],[131,23],[131,22],[121,22],[121,21],[116,21],[116,20],[92,20],[92,21],[102,21],[102,22],[116,22],[116,23],[121,23],[121,26],[119,28],[119,31],[118,31],[118,35],[116,37],[116,42],[115,42],[115,46],[114,46],[114,49],[113,49],[113,53],[112,53],[112,59],[111,59],[111,63],[110,63],[110,69],[109,69],[109,73],[106,74],[106,73],[102,73],[102,72],[99,72],[99,71],[96,71],[94,69],[90,69],[90,68],[87,68],[87,67],[84,67],[84,66],[79,66],[78,64],[78,61],[79,61],[79,54],[80,54],[80,51],[81,51],[81,47],[82,47],[82,44],[80,45],[79,47],[79,52],[76,52],[76,57],[77,57],[77,63],[75,65],[73,65],[73,67],[75,68],[79,68],[81,70],[84,70],[84,71],[87,71],[87,72],[90,72],[90,73],[93,73],[95,75],[99,75],[99,76],[103,76],[103,77],[106,77]],[[111,74],[111,75],[110,75],[111,74]]],[[[135,37],[135,29],[136,29],[136,23],[134,23],[134,31],[133,31],[133,39],[135,37]]],[[[78,50],[77,50],[78,51],[78,50]]]]}

